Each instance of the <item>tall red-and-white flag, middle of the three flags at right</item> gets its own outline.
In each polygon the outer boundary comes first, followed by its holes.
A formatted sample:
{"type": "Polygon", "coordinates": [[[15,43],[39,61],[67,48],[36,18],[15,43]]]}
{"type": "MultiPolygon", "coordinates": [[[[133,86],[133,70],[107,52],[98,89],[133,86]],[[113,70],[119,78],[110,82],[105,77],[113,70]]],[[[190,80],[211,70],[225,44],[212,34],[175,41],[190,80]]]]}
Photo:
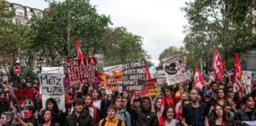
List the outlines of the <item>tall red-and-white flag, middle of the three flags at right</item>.
{"type": "Polygon", "coordinates": [[[225,65],[224,65],[224,61],[220,57],[220,54],[216,46],[214,46],[214,51],[213,51],[212,69],[214,69],[215,71],[217,80],[222,80],[222,76],[224,75],[225,65]]]}

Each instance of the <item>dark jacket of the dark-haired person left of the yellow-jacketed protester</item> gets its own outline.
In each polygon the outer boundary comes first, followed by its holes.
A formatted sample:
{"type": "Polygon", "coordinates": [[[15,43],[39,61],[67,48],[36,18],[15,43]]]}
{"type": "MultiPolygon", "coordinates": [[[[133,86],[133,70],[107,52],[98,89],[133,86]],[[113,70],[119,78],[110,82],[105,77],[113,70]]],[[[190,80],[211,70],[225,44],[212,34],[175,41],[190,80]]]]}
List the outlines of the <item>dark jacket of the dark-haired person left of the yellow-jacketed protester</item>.
{"type": "Polygon", "coordinates": [[[77,117],[76,113],[73,111],[73,113],[66,117],[65,126],[96,126],[96,124],[88,111],[84,110],[80,117],[77,117]]]}

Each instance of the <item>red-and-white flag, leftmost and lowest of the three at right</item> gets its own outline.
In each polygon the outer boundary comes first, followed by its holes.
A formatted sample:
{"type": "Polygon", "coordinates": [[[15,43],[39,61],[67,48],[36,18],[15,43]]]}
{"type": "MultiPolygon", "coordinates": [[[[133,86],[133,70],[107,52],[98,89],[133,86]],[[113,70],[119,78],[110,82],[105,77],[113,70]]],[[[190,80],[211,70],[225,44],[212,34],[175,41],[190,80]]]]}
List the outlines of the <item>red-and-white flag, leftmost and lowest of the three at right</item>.
{"type": "Polygon", "coordinates": [[[205,80],[201,76],[201,72],[198,69],[198,66],[195,67],[195,73],[194,73],[194,88],[198,89],[199,91],[202,91],[202,88],[205,86],[205,80]]]}

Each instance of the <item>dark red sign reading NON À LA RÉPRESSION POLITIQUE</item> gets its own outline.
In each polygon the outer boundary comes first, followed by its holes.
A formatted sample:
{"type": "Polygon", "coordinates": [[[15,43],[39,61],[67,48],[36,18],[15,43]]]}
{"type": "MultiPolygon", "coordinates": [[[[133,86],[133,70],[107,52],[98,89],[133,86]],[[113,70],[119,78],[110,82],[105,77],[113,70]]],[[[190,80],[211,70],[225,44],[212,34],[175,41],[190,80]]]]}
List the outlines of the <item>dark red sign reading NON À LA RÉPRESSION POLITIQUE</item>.
{"type": "Polygon", "coordinates": [[[70,85],[99,83],[95,57],[67,59],[66,71],[70,77],[70,85]]]}

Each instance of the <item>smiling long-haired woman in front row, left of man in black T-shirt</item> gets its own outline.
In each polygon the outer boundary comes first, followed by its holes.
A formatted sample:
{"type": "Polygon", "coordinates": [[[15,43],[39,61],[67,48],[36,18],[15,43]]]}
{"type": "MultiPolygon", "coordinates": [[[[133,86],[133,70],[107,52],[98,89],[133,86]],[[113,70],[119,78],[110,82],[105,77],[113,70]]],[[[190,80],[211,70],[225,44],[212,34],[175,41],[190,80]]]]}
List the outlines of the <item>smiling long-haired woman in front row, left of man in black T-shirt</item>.
{"type": "Polygon", "coordinates": [[[159,126],[179,126],[179,120],[175,119],[175,109],[173,106],[164,108],[162,117],[160,117],[159,126]]]}

